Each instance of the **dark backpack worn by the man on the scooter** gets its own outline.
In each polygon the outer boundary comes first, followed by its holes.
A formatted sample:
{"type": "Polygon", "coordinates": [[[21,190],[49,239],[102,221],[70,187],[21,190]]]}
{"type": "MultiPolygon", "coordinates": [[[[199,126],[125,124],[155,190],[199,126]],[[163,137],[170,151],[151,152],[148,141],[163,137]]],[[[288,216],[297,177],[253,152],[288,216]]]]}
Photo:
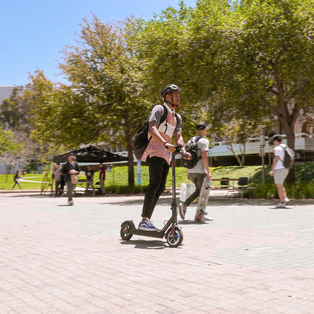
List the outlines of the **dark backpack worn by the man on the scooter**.
{"type": "MultiPolygon", "coordinates": [[[[164,113],[161,116],[158,128],[160,127],[161,123],[163,123],[166,120],[168,114],[167,108],[164,105],[162,105],[162,107],[164,108],[164,113]]],[[[137,160],[142,159],[144,151],[147,148],[150,140],[152,139],[152,137],[148,139],[149,117],[145,120],[142,127],[138,130],[133,141],[133,153],[137,160]]],[[[178,121],[177,116],[176,119],[178,121]]]]}

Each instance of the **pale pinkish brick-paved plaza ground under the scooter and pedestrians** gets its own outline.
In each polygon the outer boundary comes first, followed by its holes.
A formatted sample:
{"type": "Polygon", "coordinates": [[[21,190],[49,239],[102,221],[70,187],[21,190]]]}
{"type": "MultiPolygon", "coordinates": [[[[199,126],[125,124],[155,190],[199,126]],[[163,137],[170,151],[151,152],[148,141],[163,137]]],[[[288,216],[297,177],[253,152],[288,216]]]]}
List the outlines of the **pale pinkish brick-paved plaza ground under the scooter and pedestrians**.
{"type": "MultiPolygon", "coordinates": [[[[1,194],[0,313],[313,314],[314,205],[210,198],[179,221],[182,246],[120,239],[143,195],[1,194]]],[[[160,199],[154,224],[171,215],[160,199]]]]}

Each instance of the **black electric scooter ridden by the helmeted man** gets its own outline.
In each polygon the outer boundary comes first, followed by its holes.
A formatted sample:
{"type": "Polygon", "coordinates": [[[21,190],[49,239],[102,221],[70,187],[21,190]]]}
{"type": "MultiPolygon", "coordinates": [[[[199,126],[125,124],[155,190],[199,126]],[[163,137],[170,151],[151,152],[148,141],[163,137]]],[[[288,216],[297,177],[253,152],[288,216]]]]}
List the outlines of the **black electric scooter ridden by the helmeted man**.
{"type": "Polygon", "coordinates": [[[175,159],[176,155],[182,155],[183,157],[188,157],[188,155],[181,151],[183,145],[175,147],[175,151],[171,154],[172,158],[172,203],[171,211],[172,215],[170,219],[164,222],[164,227],[157,231],[146,231],[136,229],[133,220],[126,220],[121,224],[120,236],[122,240],[128,241],[133,235],[138,236],[149,236],[153,238],[166,238],[167,243],[170,247],[177,247],[183,241],[183,233],[181,227],[178,226],[177,221],[177,203],[176,203],[176,167],[175,159]]]}

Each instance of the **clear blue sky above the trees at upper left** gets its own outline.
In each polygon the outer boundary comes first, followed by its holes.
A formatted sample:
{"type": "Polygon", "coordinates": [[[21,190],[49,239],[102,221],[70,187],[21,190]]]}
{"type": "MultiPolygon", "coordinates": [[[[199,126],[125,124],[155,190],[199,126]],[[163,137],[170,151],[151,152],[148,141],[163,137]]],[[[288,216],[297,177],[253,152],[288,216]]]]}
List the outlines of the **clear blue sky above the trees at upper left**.
{"type": "MultiPolygon", "coordinates": [[[[0,86],[25,85],[39,68],[52,81],[64,81],[57,69],[60,50],[73,45],[83,17],[104,22],[130,14],[151,19],[179,0],[0,0],[0,86]]],[[[195,6],[195,0],[184,0],[195,6]]]]}

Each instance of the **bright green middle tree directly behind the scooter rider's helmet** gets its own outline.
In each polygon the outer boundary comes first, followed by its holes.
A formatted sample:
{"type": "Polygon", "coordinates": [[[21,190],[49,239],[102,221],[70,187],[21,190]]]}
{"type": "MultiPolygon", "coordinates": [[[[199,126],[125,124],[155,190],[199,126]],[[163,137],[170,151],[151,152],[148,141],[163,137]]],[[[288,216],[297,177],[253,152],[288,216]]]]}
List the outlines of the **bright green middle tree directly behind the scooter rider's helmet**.
{"type": "Polygon", "coordinates": [[[160,86],[175,83],[181,87],[183,137],[194,134],[195,121],[212,123],[209,108],[217,90],[217,58],[225,51],[225,37],[231,7],[228,1],[197,1],[187,8],[183,1],[178,10],[167,8],[160,15],[140,21],[138,53],[146,64],[151,101],[160,86]]]}

